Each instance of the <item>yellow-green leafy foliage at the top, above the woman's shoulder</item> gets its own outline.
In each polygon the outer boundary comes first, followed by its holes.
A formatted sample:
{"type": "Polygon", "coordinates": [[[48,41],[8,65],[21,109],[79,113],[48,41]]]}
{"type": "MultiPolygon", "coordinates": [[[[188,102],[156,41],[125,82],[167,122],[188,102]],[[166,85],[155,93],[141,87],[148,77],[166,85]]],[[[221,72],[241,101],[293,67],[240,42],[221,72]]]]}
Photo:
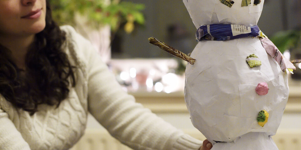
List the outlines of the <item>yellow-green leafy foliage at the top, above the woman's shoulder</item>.
{"type": "Polygon", "coordinates": [[[99,28],[110,25],[116,32],[121,24],[130,33],[134,23],[143,25],[145,22],[142,10],[144,4],[120,2],[120,0],[49,0],[53,18],[60,24],[75,25],[75,16],[80,14],[87,18],[89,26],[99,28]]]}

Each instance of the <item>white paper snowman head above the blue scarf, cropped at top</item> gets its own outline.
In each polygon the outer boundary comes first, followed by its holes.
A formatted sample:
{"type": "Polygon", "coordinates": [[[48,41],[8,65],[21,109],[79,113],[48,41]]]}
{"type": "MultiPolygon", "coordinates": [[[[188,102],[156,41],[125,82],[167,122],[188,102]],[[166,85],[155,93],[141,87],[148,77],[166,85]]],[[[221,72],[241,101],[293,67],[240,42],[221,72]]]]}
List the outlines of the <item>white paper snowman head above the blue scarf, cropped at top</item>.
{"type": "Polygon", "coordinates": [[[209,24],[257,25],[264,0],[183,0],[196,28],[209,24]]]}

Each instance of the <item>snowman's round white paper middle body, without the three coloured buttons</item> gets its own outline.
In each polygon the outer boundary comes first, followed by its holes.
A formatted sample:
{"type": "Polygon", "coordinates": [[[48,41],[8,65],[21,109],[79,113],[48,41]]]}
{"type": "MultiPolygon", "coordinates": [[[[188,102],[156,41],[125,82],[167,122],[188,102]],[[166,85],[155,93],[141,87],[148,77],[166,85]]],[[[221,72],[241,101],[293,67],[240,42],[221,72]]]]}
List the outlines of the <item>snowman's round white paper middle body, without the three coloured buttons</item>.
{"type": "Polygon", "coordinates": [[[276,133],[288,100],[288,77],[259,38],[201,41],[191,57],[196,62],[186,67],[185,101],[194,127],[210,142],[233,142],[249,132],[276,133]],[[251,54],[261,66],[249,67],[251,54]],[[255,89],[262,82],[269,92],[259,96],[255,89]],[[256,120],[261,110],[269,113],[264,127],[256,120]]]}

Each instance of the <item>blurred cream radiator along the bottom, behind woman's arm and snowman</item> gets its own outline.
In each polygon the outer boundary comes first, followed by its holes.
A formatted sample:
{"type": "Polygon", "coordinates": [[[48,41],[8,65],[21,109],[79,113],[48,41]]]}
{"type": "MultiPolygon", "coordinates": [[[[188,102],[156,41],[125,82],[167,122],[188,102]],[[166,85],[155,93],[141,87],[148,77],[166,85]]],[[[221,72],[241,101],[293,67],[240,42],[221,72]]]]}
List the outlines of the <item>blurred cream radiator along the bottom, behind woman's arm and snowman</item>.
{"type": "MultiPolygon", "coordinates": [[[[204,140],[205,137],[196,130],[184,130],[194,138],[204,140]]],[[[279,150],[301,150],[301,130],[278,130],[273,136],[279,150]]],[[[81,140],[70,150],[132,150],[124,146],[103,129],[87,129],[81,140]]]]}

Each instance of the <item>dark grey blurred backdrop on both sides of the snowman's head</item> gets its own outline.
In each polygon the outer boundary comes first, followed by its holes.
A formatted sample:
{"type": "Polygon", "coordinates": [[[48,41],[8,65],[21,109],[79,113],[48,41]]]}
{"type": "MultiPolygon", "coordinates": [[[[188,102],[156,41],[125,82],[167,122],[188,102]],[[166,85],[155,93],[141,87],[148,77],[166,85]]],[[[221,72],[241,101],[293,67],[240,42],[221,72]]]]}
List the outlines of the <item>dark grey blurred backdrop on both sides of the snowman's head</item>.
{"type": "MultiPolygon", "coordinates": [[[[196,28],[182,0],[132,0],[132,2],[147,6],[143,10],[144,26],[138,27],[132,34],[120,30],[117,34],[118,41],[113,41],[112,58],[172,57],[150,46],[147,38],[151,36],[185,53],[193,50],[197,44],[196,28]],[[120,47],[114,47],[115,43],[120,47]]],[[[281,31],[293,29],[300,31],[300,18],[300,0],[265,0],[258,26],[268,37],[273,37],[281,31]]]]}

